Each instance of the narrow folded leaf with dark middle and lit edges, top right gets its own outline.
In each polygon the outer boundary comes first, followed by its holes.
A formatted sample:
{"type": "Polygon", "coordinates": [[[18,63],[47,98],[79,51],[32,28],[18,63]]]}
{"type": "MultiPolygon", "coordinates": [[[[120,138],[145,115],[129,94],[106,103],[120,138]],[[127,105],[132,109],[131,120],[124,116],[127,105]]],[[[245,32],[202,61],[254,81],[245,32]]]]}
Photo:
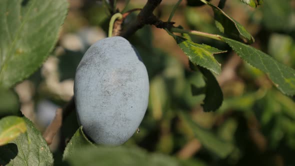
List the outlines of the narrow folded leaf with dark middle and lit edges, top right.
{"type": "Polygon", "coordinates": [[[213,9],[215,24],[222,33],[237,40],[242,39],[248,43],[254,42],[254,37],[240,23],[228,16],[219,7],[206,0],[202,1],[207,3],[213,9]]]}

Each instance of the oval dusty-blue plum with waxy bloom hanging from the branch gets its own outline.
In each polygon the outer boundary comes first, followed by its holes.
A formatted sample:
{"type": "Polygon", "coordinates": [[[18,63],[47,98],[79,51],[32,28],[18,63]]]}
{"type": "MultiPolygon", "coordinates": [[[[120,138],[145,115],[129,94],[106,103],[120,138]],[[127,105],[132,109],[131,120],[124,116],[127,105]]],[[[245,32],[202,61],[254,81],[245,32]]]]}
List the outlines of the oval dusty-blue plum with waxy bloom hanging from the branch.
{"type": "Polygon", "coordinates": [[[148,91],[145,65],[128,40],[98,40],[85,52],[75,74],[78,121],[95,143],[122,144],[144,116],[148,91]]]}

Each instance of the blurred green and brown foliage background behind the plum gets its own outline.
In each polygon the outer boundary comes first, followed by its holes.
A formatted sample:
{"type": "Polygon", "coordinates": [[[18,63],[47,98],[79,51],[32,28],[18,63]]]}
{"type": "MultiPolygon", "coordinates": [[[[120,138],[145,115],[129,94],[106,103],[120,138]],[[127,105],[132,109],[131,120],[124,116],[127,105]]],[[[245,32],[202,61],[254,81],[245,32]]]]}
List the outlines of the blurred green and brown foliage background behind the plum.
{"type": "MultiPolygon", "coordinates": [[[[20,107],[41,131],[56,108],[73,95],[75,69],[83,53],[106,37],[108,30],[110,15],[102,1],[68,1],[68,15],[48,59],[14,90],[0,93],[0,110],[20,107]]],[[[145,2],[130,0],[125,7],[125,0],[118,0],[117,8],[126,11],[145,2]]],[[[162,0],[154,14],[167,20],[176,2],[162,0]]],[[[211,2],[218,4],[218,0],[211,2]]],[[[252,46],[295,68],[295,0],[264,0],[257,8],[227,0],[223,10],[254,36],[252,46]]],[[[137,13],[130,14],[122,27],[137,13]]],[[[182,0],[172,21],[186,29],[221,34],[211,8],[205,5],[189,7],[182,0]]],[[[264,73],[243,62],[227,44],[191,37],[228,50],[215,55],[222,64],[222,73],[216,75],[224,95],[221,107],[203,112],[204,95],[191,93],[193,86],[204,85],[201,73],[189,69],[187,57],[163,29],[146,25],[128,39],[148,71],[149,104],[140,132],[125,145],[171,155],[185,165],[295,165],[294,98],[279,92],[264,73]]],[[[75,112],[71,112],[50,145],[57,160],[77,128],[75,112]]]]}

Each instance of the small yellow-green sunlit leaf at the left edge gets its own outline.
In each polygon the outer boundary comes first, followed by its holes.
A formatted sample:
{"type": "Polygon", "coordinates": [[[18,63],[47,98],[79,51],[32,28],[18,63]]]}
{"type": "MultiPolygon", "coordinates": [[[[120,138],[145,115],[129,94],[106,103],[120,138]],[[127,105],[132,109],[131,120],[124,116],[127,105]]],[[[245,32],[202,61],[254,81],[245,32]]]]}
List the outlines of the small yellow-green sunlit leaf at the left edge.
{"type": "Polygon", "coordinates": [[[0,119],[0,145],[15,139],[20,133],[25,132],[25,122],[21,117],[6,116],[0,119]]]}

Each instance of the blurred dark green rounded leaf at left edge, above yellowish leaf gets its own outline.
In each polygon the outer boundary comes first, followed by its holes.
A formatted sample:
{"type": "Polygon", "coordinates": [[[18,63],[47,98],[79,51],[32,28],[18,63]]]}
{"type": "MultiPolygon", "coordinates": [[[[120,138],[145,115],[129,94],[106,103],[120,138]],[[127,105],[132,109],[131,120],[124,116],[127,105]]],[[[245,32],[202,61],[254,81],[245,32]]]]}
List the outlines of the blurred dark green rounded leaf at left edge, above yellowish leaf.
{"type": "Polygon", "coordinates": [[[0,88],[0,117],[20,115],[18,96],[12,89],[0,88]]]}

